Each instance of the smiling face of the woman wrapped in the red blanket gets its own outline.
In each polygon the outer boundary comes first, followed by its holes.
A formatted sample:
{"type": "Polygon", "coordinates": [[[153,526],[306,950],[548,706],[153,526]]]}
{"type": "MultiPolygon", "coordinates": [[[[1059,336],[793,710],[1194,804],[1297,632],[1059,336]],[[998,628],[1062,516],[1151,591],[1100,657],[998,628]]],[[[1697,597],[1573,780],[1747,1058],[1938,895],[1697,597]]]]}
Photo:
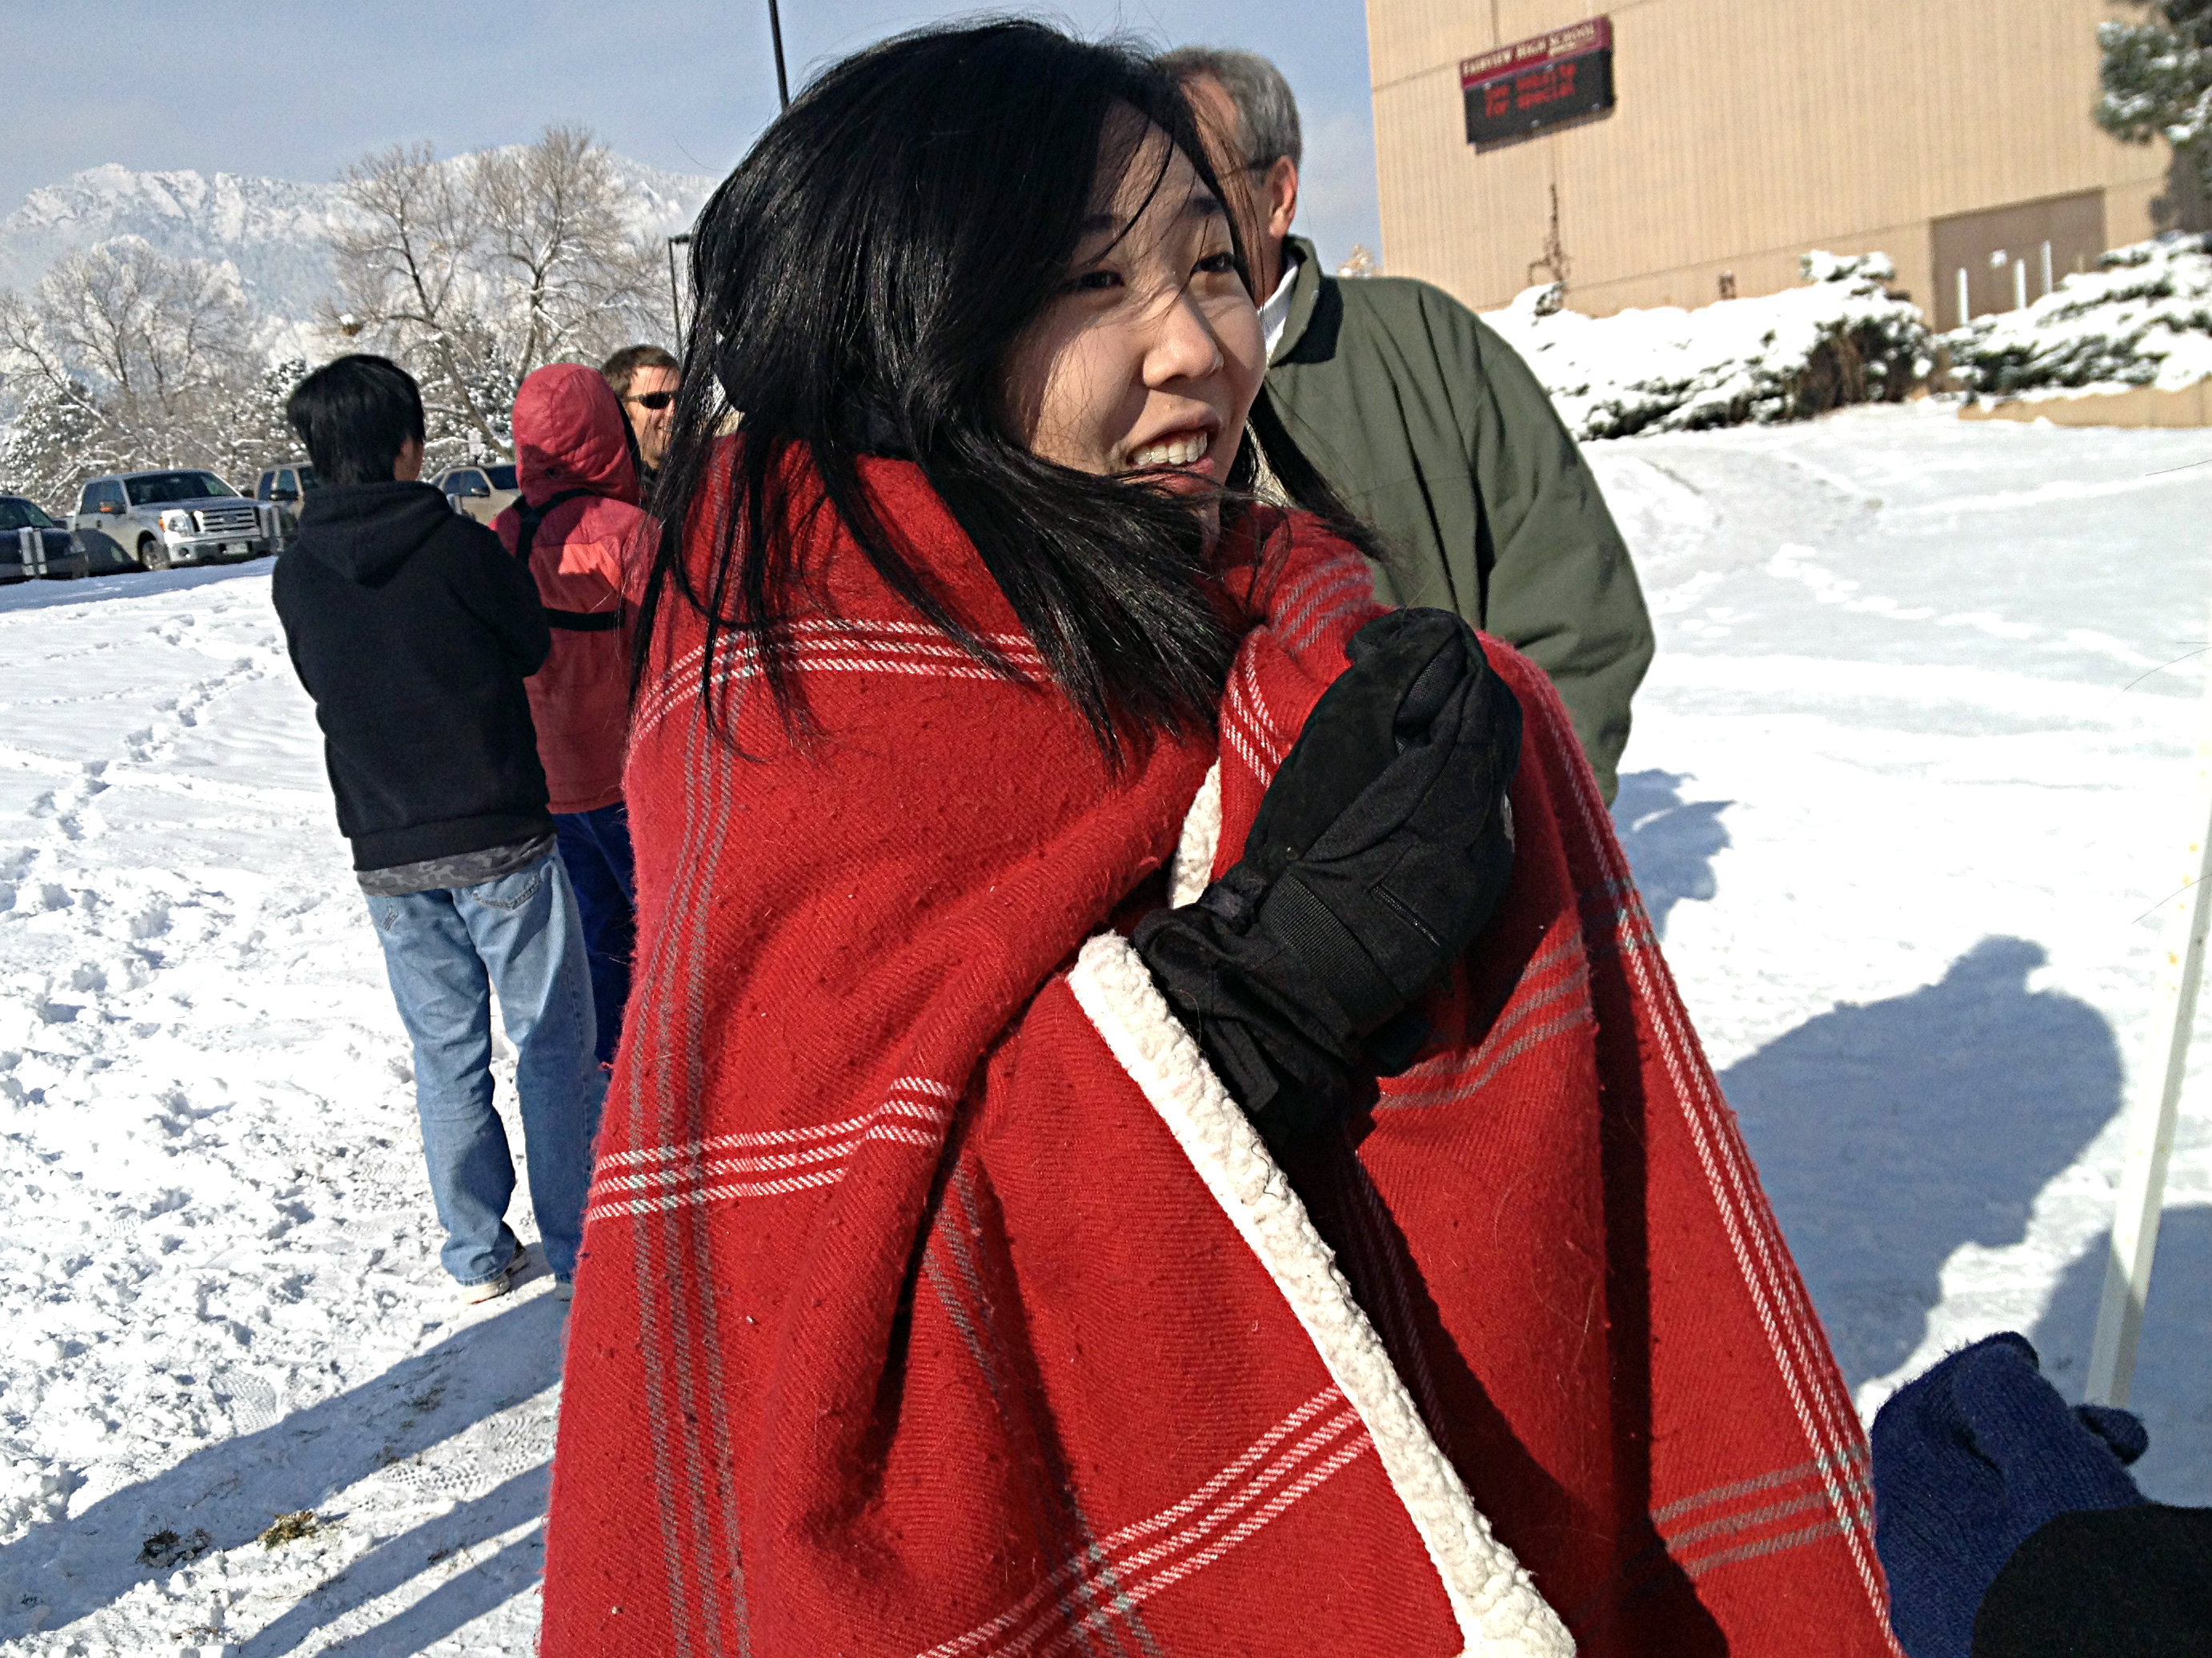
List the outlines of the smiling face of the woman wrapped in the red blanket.
{"type": "MultiPolygon", "coordinates": [[[[1267,367],[1259,312],[1221,203],[1139,119],[1106,126],[1066,281],[1013,349],[1009,416],[1044,460],[1210,495],[1267,367]]],[[[1219,502],[1206,511],[1219,524],[1219,502]]]]}

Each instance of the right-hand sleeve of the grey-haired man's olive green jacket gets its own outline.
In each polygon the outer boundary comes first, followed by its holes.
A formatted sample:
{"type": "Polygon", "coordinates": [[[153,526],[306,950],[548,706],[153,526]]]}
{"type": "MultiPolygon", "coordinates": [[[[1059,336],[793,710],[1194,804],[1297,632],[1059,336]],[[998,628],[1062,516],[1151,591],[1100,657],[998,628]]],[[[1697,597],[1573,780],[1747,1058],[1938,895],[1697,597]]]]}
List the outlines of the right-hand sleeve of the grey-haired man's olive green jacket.
{"type": "Polygon", "coordinates": [[[1453,400],[1482,500],[1482,626],[1557,685],[1610,805],[1628,703],[1652,661],[1644,590],[1542,382],[1480,318],[1436,298],[1455,314],[1436,334],[1458,347],[1464,378],[1453,400]]]}

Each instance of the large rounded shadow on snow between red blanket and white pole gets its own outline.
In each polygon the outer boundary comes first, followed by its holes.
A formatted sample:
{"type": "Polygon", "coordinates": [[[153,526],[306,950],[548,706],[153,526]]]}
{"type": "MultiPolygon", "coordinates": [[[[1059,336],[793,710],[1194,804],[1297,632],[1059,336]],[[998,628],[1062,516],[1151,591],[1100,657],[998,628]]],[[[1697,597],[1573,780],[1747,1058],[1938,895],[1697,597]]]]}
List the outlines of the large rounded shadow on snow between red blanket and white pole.
{"type": "Polygon", "coordinates": [[[2119,1110],[2104,1017],[2028,990],[2046,959],[1982,940],[1936,984],[1843,1004],[1721,1077],[1854,1391],[1920,1344],[1951,1251],[2020,1242],[2119,1110]]]}

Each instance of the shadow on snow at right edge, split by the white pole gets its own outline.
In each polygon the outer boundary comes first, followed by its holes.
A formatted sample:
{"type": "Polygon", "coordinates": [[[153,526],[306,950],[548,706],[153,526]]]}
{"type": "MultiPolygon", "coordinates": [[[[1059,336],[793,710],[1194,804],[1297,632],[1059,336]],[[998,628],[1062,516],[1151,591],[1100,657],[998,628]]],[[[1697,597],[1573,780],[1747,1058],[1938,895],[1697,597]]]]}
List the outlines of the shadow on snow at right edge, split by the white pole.
{"type": "MultiPolygon", "coordinates": [[[[2044,1375],[2068,1399],[2079,1399],[2088,1379],[2110,1247],[2110,1234],[2099,1234],[2081,1251],[2028,1331],[2044,1375]]],[[[2135,1466],[2135,1481],[2163,1503],[2212,1503],[2212,1364],[2205,1355],[2212,1355],[2212,1207],[2190,1205],[2168,1209],[2159,1222],[2128,1395],[2128,1408],[2150,1428],[2150,1450],[2135,1466]]]]}

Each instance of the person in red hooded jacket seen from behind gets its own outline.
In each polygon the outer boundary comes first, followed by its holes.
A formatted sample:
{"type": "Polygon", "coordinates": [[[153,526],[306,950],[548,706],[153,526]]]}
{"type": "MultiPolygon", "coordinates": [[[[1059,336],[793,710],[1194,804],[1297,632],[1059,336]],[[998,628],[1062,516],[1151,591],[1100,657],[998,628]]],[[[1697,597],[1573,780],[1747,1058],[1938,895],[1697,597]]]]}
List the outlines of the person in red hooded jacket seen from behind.
{"type": "Polygon", "coordinates": [[[493,520],[524,559],[553,630],[531,679],[538,758],[553,796],[562,864],[584,913],[599,1061],[613,1063],[630,995],[637,880],[622,760],[630,727],[630,570],[650,557],[637,464],[613,387],[582,363],[553,363],[515,396],[522,500],[493,520]]]}

